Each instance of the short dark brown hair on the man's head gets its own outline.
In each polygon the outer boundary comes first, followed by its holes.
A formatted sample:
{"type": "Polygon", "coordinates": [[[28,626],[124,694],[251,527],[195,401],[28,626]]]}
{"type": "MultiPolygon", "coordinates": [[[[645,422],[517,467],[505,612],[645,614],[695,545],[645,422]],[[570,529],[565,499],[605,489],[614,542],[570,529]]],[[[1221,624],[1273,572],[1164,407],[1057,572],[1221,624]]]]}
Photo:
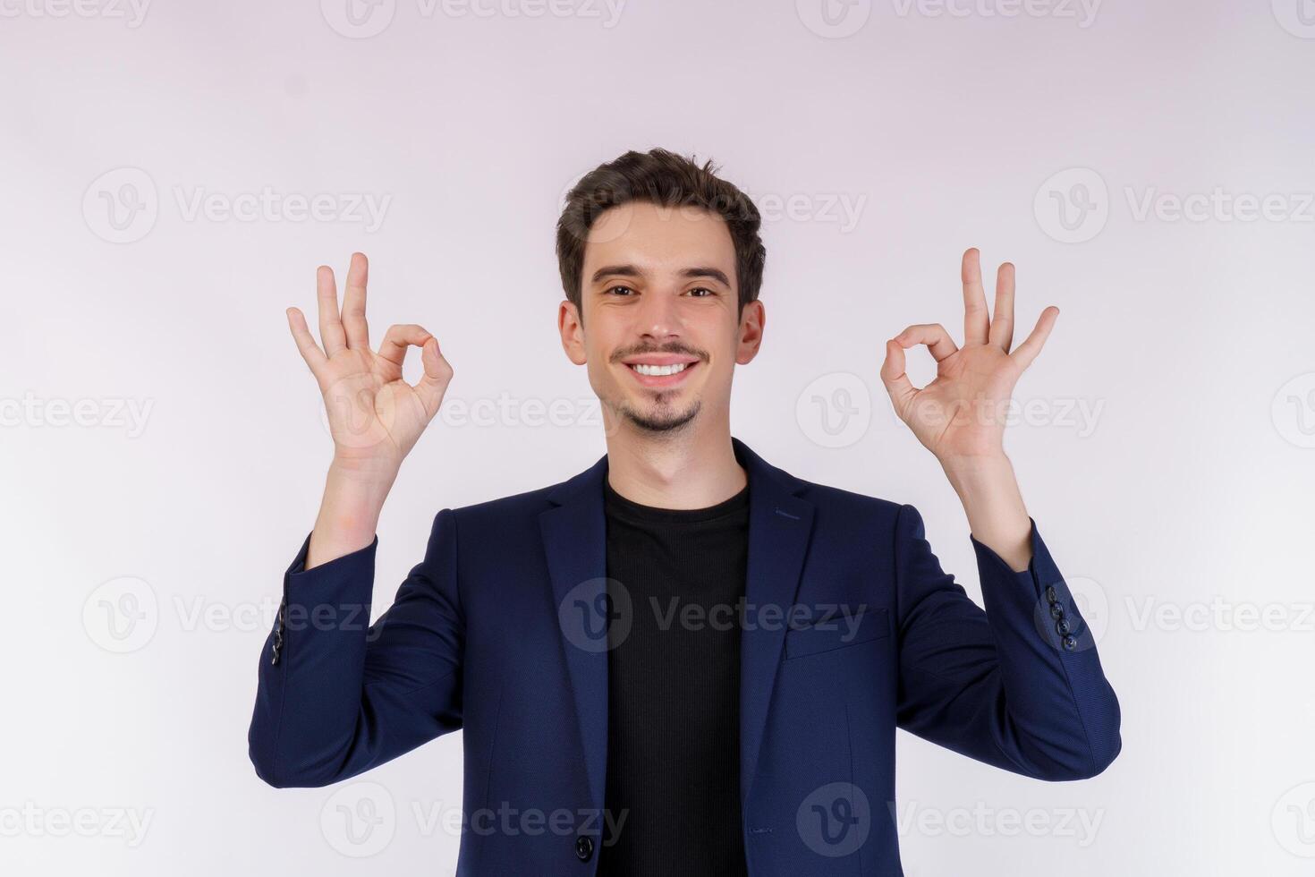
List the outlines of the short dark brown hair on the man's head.
{"type": "Polygon", "coordinates": [[[739,288],[736,317],[744,305],[757,300],[763,285],[767,249],[757,230],[763,224],[757,206],[735,185],[717,176],[711,160],[700,167],[693,158],[684,158],[664,149],[647,153],[634,150],[615,160],[600,164],[567,193],[565,206],[558,220],[558,267],[567,298],[581,308],[581,272],[589,229],[609,208],[630,201],[647,201],[659,206],[693,205],[722,217],[735,245],[735,285],[739,288]]]}

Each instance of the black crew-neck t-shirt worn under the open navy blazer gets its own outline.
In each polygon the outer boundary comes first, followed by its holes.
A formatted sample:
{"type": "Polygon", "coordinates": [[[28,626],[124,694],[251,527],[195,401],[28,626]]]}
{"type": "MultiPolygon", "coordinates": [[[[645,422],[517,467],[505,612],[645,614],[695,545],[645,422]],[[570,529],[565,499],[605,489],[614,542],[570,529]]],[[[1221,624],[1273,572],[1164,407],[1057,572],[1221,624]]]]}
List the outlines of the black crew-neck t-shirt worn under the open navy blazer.
{"type": "Polygon", "coordinates": [[[746,874],[739,613],[748,485],[704,509],[659,509],[605,479],[604,510],[609,597],[629,623],[609,628],[605,806],[619,830],[604,830],[598,876],[746,874]]]}

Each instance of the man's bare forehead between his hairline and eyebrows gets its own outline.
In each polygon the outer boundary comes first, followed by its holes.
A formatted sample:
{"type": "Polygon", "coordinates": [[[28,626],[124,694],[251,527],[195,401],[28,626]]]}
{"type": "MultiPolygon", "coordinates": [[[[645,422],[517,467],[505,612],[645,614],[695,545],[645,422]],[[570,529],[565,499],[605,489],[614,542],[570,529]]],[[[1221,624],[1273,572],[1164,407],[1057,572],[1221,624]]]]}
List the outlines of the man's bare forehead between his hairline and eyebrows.
{"type": "Polygon", "coordinates": [[[734,277],[735,242],[726,220],[702,208],[630,201],[608,209],[589,229],[581,273],[589,277],[605,264],[646,272],[713,266],[734,277]]]}

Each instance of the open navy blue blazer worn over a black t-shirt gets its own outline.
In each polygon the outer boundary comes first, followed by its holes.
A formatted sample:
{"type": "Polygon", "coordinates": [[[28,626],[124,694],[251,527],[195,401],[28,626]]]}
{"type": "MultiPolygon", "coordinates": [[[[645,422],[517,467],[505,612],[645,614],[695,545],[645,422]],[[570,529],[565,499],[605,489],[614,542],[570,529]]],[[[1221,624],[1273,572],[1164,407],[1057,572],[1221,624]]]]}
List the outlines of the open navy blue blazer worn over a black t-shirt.
{"type": "MultiPolygon", "coordinates": [[[[969,536],[984,611],[942,571],[914,506],[803,481],[731,442],[756,609],[740,675],[751,874],[902,874],[897,727],[1039,780],[1114,760],[1118,699],[1035,521],[1024,572],[969,536]]],[[[456,873],[592,874],[608,836],[608,656],[592,638],[617,615],[606,472],[604,455],[554,486],[441,510],[373,625],[377,536],[306,571],[308,535],[260,652],[256,774],[325,786],[462,728],[456,873]]]]}

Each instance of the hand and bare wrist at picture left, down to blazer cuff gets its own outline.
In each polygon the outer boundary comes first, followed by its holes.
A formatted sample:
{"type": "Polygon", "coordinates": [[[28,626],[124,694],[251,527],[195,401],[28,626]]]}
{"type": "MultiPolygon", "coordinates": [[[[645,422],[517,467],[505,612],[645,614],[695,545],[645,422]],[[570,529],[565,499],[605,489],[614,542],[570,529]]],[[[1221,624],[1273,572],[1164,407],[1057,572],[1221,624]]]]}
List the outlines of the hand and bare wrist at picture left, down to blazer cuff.
{"type": "Polygon", "coordinates": [[[373,542],[379,511],[402,459],[438,413],[452,380],[438,339],[421,326],[389,326],[379,351],[370,348],[367,276],[364,254],[354,252],[339,314],[333,270],[320,266],[316,280],[323,350],[302,313],[288,308],[288,326],[320,384],[334,442],[306,569],[373,542]],[[409,346],[421,348],[425,366],[414,387],[402,380],[409,346]]]}

